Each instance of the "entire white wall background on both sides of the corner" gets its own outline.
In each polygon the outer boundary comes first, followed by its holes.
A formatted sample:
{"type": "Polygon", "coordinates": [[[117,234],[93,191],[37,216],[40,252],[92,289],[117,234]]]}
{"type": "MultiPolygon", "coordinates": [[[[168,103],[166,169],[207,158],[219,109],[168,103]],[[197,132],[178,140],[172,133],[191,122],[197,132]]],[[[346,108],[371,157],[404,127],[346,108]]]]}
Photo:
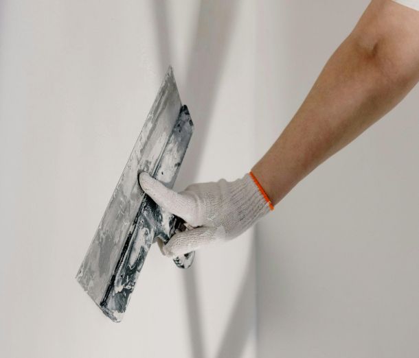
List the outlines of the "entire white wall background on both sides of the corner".
{"type": "Polygon", "coordinates": [[[367,5],[164,3],[0,1],[0,356],[416,357],[418,88],[258,225],[257,287],[252,232],[186,272],[153,248],[121,324],[78,287],[169,63],[196,124],[177,187],[234,179],[367,5]]]}

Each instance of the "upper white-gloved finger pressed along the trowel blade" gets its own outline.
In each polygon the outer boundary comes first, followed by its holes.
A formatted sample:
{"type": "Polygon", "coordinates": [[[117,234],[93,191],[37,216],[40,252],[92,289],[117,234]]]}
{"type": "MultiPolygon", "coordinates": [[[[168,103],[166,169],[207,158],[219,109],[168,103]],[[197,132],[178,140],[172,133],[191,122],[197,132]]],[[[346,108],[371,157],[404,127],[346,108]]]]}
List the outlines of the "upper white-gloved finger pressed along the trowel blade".
{"type": "Polygon", "coordinates": [[[161,206],[163,210],[181,217],[185,222],[193,226],[201,225],[201,223],[197,222],[197,205],[193,196],[183,195],[166,188],[164,184],[152,178],[145,171],[139,174],[138,181],[141,189],[161,206]]]}

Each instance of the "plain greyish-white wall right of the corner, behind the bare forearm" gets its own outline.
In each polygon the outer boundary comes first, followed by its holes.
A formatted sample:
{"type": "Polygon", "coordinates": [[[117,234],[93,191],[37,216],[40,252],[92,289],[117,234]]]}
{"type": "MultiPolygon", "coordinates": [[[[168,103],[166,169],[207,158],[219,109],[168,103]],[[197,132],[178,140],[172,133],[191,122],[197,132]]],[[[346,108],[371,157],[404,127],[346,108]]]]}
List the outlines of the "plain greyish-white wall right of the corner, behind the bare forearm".
{"type": "MultiPolygon", "coordinates": [[[[258,7],[258,156],[368,1],[258,7]]],[[[257,228],[258,357],[419,355],[419,88],[257,228]]]]}

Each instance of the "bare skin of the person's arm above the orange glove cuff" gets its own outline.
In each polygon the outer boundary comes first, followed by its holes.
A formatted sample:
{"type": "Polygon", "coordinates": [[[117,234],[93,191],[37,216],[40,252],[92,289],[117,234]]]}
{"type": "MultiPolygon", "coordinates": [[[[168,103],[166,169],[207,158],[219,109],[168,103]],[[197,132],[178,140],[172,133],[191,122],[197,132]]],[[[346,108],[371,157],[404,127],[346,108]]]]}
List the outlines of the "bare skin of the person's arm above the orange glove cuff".
{"type": "Polygon", "coordinates": [[[370,3],[278,140],[252,168],[273,204],[418,82],[418,14],[387,0],[370,3]]]}

